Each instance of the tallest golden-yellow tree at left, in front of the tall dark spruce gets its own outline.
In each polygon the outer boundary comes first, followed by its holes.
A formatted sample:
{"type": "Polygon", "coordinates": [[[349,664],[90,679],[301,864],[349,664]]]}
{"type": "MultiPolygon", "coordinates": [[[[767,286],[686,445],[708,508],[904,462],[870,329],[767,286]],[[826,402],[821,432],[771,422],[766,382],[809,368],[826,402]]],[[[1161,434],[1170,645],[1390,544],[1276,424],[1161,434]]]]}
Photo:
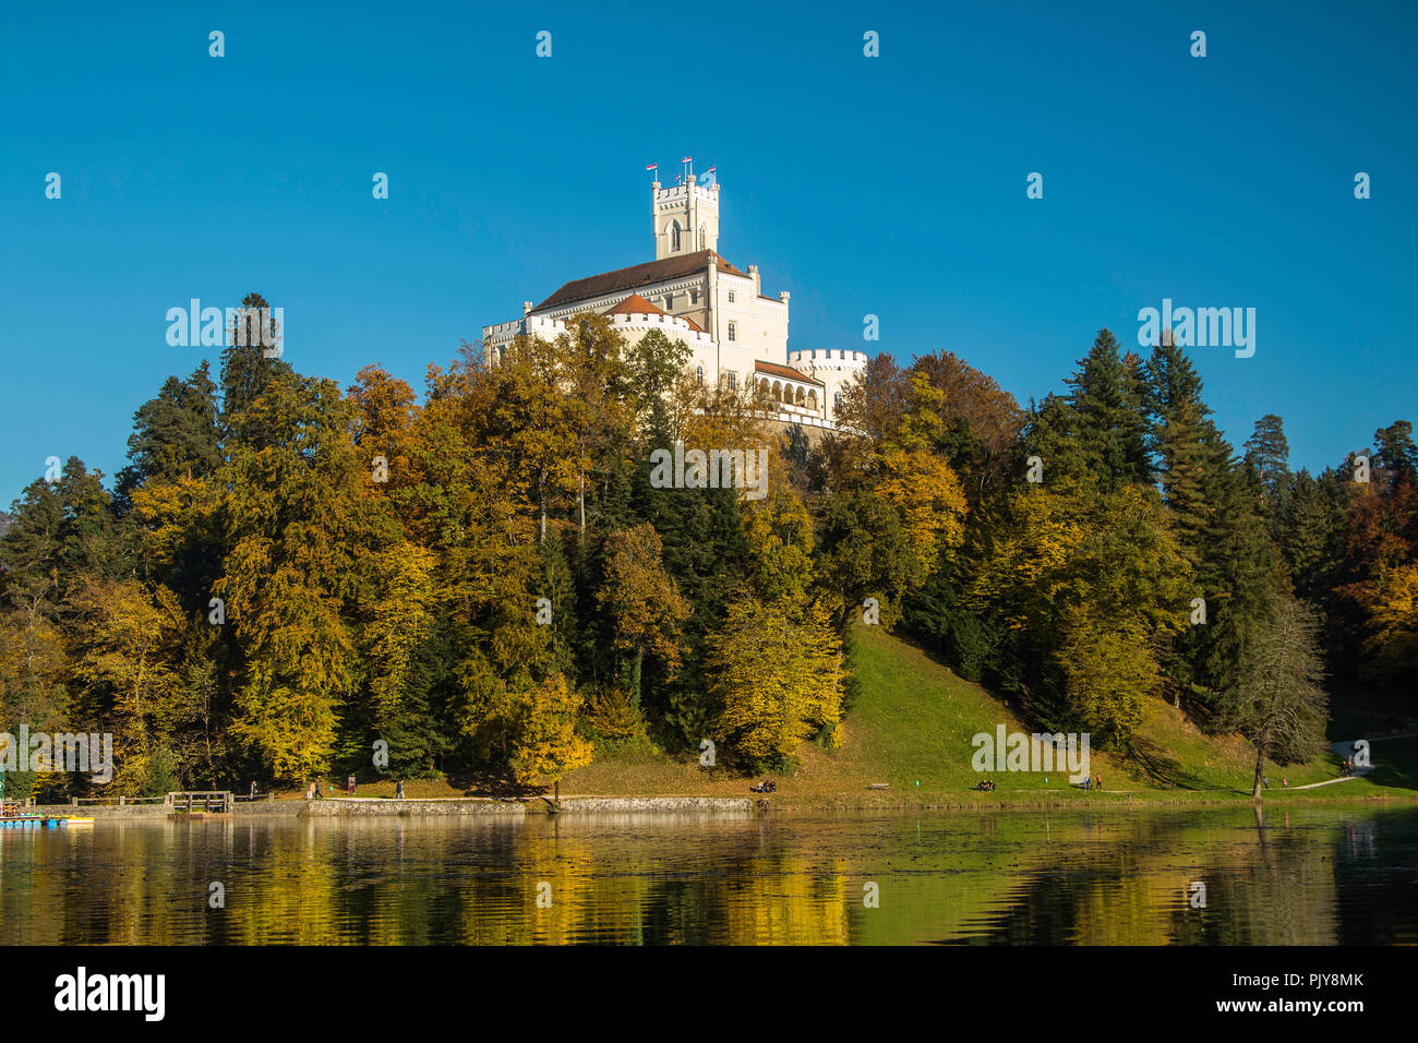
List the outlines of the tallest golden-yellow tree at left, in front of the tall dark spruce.
{"type": "Polygon", "coordinates": [[[364,488],[352,420],[333,382],[275,379],[233,419],[218,475],[231,549],[214,592],[244,661],[231,732],[284,779],[315,775],[335,752],[359,677],[362,578],[397,542],[364,488]]]}

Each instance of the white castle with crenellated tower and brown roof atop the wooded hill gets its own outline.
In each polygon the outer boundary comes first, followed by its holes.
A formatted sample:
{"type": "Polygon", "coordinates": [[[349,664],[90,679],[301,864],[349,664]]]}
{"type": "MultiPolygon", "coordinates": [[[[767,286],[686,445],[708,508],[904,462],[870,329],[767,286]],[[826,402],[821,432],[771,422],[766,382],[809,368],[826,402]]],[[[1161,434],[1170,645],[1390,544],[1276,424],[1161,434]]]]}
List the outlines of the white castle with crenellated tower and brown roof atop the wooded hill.
{"type": "Polygon", "coordinates": [[[842,389],[866,365],[864,352],[788,352],[788,294],[767,297],[759,265],[747,271],[719,255],[719,183],[651,183],[651,234],[655,260],[566,282],[542,304],[523,301],[522,318],[482,328],[489,365],[519,336],[553,341],[579,312],[610,316],[634,343],[651,329],[691,351],[700,382],[729,387],[754,382],[771,400],[770,420],[837,427],[842,389]]]}

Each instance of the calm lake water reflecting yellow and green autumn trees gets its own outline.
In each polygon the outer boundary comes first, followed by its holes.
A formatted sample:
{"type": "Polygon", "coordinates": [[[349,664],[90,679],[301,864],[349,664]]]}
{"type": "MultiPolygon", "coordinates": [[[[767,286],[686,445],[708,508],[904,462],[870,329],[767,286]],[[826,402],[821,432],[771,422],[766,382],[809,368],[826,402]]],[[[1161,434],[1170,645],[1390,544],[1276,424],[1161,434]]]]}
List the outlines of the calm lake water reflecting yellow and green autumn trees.
{"type": "Polygon", "coordinates": [[[1415,867],[1358,806],[99,822],[0,833],[0,944],[1414,944],[1415,867]]]}

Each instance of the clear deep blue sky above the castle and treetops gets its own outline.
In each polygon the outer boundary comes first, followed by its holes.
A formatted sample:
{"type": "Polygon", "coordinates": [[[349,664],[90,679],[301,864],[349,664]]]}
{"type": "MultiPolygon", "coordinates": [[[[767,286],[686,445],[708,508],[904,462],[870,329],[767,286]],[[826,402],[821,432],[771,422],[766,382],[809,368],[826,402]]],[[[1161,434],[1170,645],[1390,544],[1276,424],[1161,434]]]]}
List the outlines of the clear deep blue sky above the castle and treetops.
{"type": "Polygon", "coordinates": [[[77,3],[0,30],[4,504],[48,456],[123,464],[201,358],[167,308],[258,289],[301,372],[421,389],[523,299],[652,258],[645,165],[682,155],[718,166],[720,253],[791,291],[790,348],[946,348],[1022,403],[1168,297],[1256,309],[1254,358],[1193,352],[1235,443],[1279,413],[1319,468],[1418,420],[1418,4],[77,3]]]}

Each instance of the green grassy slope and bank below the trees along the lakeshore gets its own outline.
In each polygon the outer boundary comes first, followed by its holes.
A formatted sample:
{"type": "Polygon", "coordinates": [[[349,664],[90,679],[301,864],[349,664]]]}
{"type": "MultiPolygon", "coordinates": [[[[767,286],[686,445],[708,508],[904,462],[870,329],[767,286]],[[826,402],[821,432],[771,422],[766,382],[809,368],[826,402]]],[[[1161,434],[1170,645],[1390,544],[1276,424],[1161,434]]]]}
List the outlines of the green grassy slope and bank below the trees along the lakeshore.
{"type": "MultiPolygon", "coordinates": [[[[993,793],[971,790],[981,778],[971,768],[971,736],[1031,731],[997,698],[977,684],[956,677],[919,647],[879,627],[859,627],[856,673],[862,694],[845,724],[842,749],[808,746],[797,771],[778,776],[777,806],[1038,806],[1052,803],[1126,803],[1246,800],[1255,754],[1239,736],[1207,736],[1180,711],[1151,701],[1140,729],[1141,759],[1109,751],[1092,752],[1092,772],[1103,775],[1102,792],[1069,786],[1062,773],[990,772],[993,793]],[[869,790],[873,782],[891,789],[869,790]]],[[[1285,790],[1339,775],[1333,755],[1306,765],[1269,765],[1266,800],[1418,796],[1418,739],[1374,744],[1371,776],[1313,790],[1285,790]],[[1397,756],[1401,755],[1401,756],[1397,756]]],[[[562,795],[700,795],[746,796],[749,782],[719,769],[708,772],[693,756],[668,758],[652,752],[598,751],[594,763],[571,772],[562,795]]],[[[362,786],[362,796],[393,792],[389,783],[362,786]]],[[[410,796],[448,796],[431,783],[408,783],[410,796]]]]}

